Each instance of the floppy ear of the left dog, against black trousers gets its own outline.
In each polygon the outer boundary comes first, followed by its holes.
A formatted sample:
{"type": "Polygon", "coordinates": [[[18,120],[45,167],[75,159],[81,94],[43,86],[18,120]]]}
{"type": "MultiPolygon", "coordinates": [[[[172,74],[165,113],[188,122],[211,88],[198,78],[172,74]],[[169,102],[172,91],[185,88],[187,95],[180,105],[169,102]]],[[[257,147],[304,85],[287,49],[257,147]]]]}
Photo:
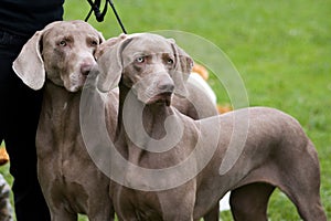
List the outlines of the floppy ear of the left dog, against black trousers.
{"type": "Polygon", "coordinates": [[[43,31],[38,31],[23,45],[19,56],[13,62],[15,74],[33,90],[40,90],[45,82],[44,62],[41,56],[43,31]]]}

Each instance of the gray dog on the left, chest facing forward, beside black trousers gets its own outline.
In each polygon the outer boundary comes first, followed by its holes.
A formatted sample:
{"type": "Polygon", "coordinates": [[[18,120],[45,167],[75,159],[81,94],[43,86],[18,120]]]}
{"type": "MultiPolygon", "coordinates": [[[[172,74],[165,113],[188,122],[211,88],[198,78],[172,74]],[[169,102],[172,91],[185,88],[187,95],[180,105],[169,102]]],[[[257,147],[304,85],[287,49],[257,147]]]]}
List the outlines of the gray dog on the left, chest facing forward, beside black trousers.
{"type": "MultiPolygon", "coordinates": [[[[44,87],[38,175],[53,221],[75,221],[78,213],[90,221],[114,219],[109,178],[89,158],[79,127],[81,91],[103,41],[86,22],[53,22],[29,40],[13,64],[28,86],[44,87]]],[[[110,92],[103,101],[114,128],[118,94],[110,92]]]]}

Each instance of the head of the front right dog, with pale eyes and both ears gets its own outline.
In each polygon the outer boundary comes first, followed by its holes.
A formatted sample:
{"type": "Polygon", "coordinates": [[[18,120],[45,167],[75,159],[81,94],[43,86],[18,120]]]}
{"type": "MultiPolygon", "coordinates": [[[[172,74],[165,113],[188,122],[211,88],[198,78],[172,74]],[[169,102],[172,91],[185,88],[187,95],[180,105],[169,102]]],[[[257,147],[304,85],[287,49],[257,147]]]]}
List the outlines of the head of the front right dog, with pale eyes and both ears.
{"type": "Polygon", "coordinates": [[[193,60],[173,40],[151,33],[120,38],[98,59],[100,91],[109,91],[122,77],[122,83],[145,104],[169,105],[173,91],[186,95],[184,84],[193,60]]]}

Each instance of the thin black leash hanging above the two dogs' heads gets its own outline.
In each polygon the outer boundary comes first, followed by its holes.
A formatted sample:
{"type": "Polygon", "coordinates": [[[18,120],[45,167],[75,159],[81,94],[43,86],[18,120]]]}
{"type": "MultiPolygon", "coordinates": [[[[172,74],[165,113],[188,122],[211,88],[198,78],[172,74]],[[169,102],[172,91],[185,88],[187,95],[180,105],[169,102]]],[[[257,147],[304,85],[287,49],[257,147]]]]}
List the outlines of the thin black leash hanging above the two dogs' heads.
{"type": "Polygon", "coordinates": [[[121,31],[125,34],[127,33],[127,31],[126,31],[126,29],[125,29],[125,27],[124,27],[124,24],[122,24],[122,22],[121,22],[121,20],[119,18],[117,11],[115,9],[114,2],[111,0],[106,0],[105,1],[105,6],[104,6],[104,9],[103,9],[103,12],[100,11],[102,0],[95,0],[94,2],[93,2],[93,0],[87,0],[87,1],[88,1],[89,6],[90,6],[90,10],[89,10],[89,12],[88,12],[88,14],[87,14],[87,17],[85,19],[86,22],[88,21],[92,12],[94,12],[94,15],[95,15],[95,18],[96,18],[96,20],[98,22],[104,21],[104,18],[105,18],[105,15],[107,13],[107,7],[108,7],[108,3],[109,3],[110,7],[111,7],[111,9],[113,9],[113,12],[114,12],[114,14],[115,14],[115,17],[117,19],[117,22],[119,23],[119,25],[121,28],[121,31]]]}

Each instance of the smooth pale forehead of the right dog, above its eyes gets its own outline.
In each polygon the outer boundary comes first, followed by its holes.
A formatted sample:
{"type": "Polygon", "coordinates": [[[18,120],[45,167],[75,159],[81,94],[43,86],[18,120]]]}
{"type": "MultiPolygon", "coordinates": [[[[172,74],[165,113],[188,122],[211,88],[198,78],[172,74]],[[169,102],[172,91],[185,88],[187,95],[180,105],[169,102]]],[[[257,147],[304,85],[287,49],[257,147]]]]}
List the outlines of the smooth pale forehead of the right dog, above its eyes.
{"type": "Polygon", "coordinates": [[[162,36],[154,34],[142,34],[132,38],[132,41],[124,49],[127,55],[153,55],[153,54],[173,54],[171,42],[162,36]]]}

